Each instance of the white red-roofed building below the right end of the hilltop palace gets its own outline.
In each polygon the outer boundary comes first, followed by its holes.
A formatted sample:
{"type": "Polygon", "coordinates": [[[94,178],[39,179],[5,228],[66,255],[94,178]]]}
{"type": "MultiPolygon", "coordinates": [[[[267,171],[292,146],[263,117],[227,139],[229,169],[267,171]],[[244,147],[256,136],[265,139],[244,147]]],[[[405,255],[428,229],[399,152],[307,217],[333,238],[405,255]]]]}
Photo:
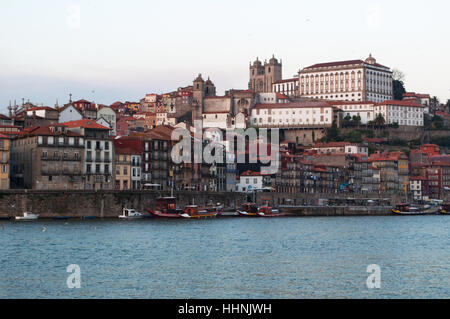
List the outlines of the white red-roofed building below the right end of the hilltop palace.
{"type": "Polygon", "coordinates": [[[397,123],[400,126],[423,126],[424,108],[414,101],[384,101],[374,107],[375,118],[383,115],[385,124],[397,123]]]}

